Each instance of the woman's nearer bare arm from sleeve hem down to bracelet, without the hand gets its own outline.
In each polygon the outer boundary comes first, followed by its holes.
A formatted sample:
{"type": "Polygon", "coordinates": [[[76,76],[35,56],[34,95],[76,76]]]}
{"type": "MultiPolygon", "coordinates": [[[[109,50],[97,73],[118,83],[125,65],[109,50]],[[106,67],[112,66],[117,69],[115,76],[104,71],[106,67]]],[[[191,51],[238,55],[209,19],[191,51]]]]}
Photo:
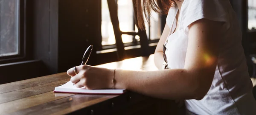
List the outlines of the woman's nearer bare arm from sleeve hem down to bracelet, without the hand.
{"type": "Polygon", "coordinates": [[[206,19],[189,25],[184,69],[116,71],[116,87],[159,98],[201,99],[208,92],[216,69],[221,22],[206,19]]]}

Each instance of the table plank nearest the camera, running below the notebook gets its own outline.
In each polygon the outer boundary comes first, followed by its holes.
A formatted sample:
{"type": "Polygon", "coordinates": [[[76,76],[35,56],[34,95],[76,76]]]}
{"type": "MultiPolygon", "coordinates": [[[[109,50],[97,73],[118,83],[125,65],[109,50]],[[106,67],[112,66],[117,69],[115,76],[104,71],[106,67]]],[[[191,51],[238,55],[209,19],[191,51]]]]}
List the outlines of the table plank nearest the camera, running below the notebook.
{"type": "Polygon", "coordinates": [[[76,94],[70,97],[61,98],[55,101],[44,103],[38,106],[22,109],[17,112],[11,113],[11,115],[62,115],[67,114],[78,109],[89,107],[95,103],[99,103],[110,98],[114,98],[118,95],[83,95],[76,94]]]}

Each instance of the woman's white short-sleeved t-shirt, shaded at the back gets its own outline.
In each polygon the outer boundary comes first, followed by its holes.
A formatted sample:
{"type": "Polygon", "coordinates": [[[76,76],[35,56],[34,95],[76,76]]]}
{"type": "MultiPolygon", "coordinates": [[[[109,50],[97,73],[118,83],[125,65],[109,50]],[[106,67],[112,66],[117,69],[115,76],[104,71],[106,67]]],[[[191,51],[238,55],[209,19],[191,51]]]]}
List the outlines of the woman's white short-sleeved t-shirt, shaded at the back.
{"type": "MultiPolygon", "coordinates": [[[[170,8],[166,23],[176,28],[177,6],[170,8]]],[[[184,68],[188,45],[188,25],[196,20],[224,22],[221,50],[212,85],[205,97],[198,101],[185,100],[187,115],[256,115],[256,101],[252,94],[241,31],[229,0],[184,0],[179,27],[168,36],[166,57],[170,69],[184,68]]],[[[166,40],[167,40],[166,39],[166,40]]]]}

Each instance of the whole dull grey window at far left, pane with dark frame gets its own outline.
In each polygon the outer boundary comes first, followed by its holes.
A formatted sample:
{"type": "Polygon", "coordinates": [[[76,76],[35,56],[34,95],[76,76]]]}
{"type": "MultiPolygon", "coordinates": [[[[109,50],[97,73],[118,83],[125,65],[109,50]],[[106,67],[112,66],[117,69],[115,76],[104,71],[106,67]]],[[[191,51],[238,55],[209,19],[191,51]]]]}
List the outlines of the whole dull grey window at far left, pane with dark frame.
{"type": "Polygon", "coordinates": [[[24,1],[0,0],[0,64],[25,59],[24,1]]]}

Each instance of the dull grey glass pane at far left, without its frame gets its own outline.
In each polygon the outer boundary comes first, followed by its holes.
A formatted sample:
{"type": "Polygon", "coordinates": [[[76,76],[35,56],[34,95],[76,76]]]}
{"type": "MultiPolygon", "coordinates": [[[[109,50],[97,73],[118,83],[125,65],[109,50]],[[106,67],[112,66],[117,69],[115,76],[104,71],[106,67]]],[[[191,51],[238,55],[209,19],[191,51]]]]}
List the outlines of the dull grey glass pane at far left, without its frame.
{"type": "Polygon", "coordinates": [[[0,56],[19,54],[19,0],[0,0],[0,56]]]}

